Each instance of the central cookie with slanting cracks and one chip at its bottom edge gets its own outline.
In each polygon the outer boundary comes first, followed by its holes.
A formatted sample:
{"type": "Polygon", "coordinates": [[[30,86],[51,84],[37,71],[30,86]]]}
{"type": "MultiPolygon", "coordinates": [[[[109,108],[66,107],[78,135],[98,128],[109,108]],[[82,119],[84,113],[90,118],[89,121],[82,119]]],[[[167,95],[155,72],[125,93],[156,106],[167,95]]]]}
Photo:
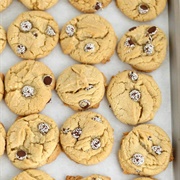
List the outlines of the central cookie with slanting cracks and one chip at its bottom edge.
{"type": "Polygon", "coordinates": [[[94,66],[75,64],[59,76],[56,91],[64,104],[74,110],[97,108],[105,93],[104,75],[94,66]]]}

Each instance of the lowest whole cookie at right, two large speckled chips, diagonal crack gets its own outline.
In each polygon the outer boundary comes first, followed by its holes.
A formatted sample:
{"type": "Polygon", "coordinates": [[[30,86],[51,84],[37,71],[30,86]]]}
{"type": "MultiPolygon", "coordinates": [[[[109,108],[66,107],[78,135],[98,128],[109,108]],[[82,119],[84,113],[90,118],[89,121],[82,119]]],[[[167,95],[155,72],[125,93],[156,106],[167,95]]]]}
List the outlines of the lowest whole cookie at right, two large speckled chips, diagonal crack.
{"type": "Polygon", "coordinates": [[[167,168],[171,152],[168,135],[158,126],[145,124],[124,135],[119,161],[125,174],[153,176],[167,168]]]}

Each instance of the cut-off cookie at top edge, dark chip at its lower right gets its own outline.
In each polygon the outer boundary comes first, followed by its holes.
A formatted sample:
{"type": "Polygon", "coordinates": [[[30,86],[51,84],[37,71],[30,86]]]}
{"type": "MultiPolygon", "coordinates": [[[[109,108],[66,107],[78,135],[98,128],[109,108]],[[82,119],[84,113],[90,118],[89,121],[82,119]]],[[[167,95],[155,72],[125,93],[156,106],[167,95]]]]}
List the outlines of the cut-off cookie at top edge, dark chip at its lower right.
{"type": "Polygon", "coordinates": [[[104,9],[112,0],[69,0],[69,2],[81,12],[93,13],[104,9]]]}

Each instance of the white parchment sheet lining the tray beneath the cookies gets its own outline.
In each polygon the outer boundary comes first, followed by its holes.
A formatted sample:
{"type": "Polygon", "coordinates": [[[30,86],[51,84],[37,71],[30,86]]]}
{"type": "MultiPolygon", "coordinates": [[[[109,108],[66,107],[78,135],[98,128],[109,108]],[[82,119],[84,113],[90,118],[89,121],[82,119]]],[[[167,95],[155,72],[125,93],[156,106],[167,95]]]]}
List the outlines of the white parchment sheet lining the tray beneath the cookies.
{"type": "MultiPolygon", "coordinates": [[[[10,23],[21,12],[24,11],[27,11],[27,9],[20,2],[14,0],[8,9],[0,13],[0,24],[7,30],[10,23]]],[[[47,10],[47,12],[53,15],[55,20],[58,22],[59,27],[62,27],[67,21],[81,14],[68,3],[68,0],[60,0],[57,5],[47,10]]],[[[144,24],[132,21],[125,17],[116,7],[115,1],[113,1],[103,11],[98,12],[98,14],[111,22],[115,29],[118,40],[129,28],[144,24]]],[[[145,24],[151,24],[160,27],[168,36],[168,7],[166,7],[165,11],[158,18],[145,24]]],[[[10,47],[7,46],[4,52],[0,55],[0,72],[6,73],[11,66],[20,61],[21,59],[14,55],[10,47]]],[[[41,59],[40,61],[44,62],[51,68],[56,78],[66,67],[77,63],[69,56],[62,53],[59,44],[49,56],[41,59]]],[[[105,74],[108,82],[111,76],[117,74],[119,71],[131,69],[129,65],[122,63],[118,59],[116,53],[114,56],[112,56],[110,62],[107,64],[96,65],[96,67],[98,67],[105,74]]],[[[162,105],[154,120],[150,123],[163,128],[172,139],[169,50],[162,66],[150,74],[157,81],[162,92],[162,105]]],[[[115,118],[108,107],[108,102],[105,97],[101,102],[100,107],[92,111],[104,115],[109,120],[111,126],[114,128],[115,142],[111,155],[106,160],[97,165],[84,166],[76,164],[75,162],[71,161],[64,153],[61,153],[53,163],[45,165],[39,169],[46,171],[56,180],[65,180],[66,175],[88,176],[90,174],[107,175],[110,176],[113,180],[132,180],[136,176],[123,174],[117,158],[122,134],[123,132],[130,131],[132,126],[122,124],[115,118]]],[[[53,92],[52,102],[47,104],[46,108],[42,111],[42,114],[53,118],[58,124],[59,128],[63,122],[73,113],[74,111],[63,105],[55,91],[53,92]]],[[[6,130],[11,126],[16,117],[17,116],[7,108],[4,102],[0,102],[0,121],[3,122],[6,130]]],[[[0,180],[10,180],[19,172],[21,171],[10,163],[6,155],[0,158],[0,180]]],[[[155,177],[157,179],[173,180],[173,164],[170,163],[166,171],[155,177]]]]}

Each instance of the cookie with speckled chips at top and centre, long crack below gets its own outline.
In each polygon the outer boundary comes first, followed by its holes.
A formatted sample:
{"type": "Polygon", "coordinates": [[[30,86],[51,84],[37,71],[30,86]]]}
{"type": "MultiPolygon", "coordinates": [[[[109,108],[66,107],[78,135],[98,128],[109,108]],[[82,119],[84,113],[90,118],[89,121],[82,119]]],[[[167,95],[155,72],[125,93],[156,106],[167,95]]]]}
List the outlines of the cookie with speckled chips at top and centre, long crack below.
{"type": "Polygon", "coordinates": [[[161,92],[151,76],[123,71],[112,77],[107,99],[117,119],[137,125],[154,118],[161,104],[161,92]]]}

